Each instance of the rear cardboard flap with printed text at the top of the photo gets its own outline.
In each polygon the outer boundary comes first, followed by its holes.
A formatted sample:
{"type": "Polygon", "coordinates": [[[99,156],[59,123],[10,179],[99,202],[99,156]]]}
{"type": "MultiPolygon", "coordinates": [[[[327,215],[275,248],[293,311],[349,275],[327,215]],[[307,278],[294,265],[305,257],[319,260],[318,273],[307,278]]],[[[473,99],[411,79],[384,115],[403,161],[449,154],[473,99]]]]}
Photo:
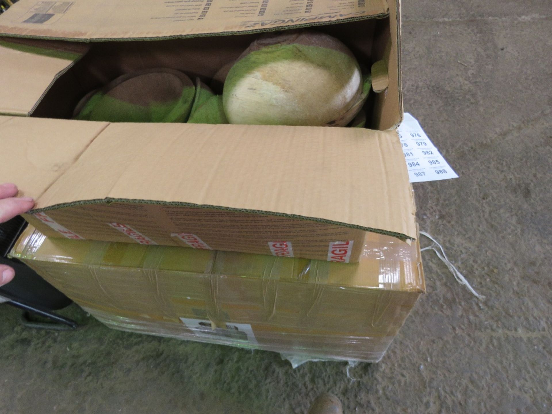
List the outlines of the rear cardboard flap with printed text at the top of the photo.
{"type": "Polygon", "coordinates": [[[362,2],[263,0],[63,2],[20,0],[0,17],[0,32],[13,36],[100,40],[231,34],[381,17],[385,0],[362,2]]]}

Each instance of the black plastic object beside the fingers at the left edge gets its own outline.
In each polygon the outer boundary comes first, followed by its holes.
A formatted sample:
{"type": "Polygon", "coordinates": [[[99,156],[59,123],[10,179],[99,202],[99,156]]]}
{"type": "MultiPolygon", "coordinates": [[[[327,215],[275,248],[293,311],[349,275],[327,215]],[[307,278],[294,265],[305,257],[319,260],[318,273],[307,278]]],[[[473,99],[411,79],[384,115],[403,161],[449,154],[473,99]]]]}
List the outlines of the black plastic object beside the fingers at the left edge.
{"type": "Polygon", "coordinates": [[[58,310],[72,303],[59,290],[41,278],[33,269],[17,259],[8,259],[7,255],[21,232],[25,229],[26,222],[17,216],[12,220],[0,224],[0,264],[7,264],[15,270],[15,278],[12,282],[0,287],[0,296],[7,299],[20,301],[28,307],[36,306],[40,311],[58,310]]]}

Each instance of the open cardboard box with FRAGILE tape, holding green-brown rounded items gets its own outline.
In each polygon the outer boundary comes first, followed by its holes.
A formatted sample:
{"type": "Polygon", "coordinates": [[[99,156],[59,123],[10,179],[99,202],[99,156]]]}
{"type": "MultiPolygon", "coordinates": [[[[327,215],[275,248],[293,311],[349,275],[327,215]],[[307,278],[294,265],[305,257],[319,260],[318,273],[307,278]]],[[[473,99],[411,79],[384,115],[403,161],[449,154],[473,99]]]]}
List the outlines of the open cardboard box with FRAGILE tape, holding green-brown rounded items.
{"type": "Polygon", "coordinates": [[[400,2],[194,4],[20,0],[0,16],[0,182],[36,199],[25,218],[50,237],[342,262],[358,261],[365,232],[415,239],[395,130],[400,2]],[[371,129],[67,119],[123,73],[208,80],[257,32],[314,25],[388,68],[371,129]]]}

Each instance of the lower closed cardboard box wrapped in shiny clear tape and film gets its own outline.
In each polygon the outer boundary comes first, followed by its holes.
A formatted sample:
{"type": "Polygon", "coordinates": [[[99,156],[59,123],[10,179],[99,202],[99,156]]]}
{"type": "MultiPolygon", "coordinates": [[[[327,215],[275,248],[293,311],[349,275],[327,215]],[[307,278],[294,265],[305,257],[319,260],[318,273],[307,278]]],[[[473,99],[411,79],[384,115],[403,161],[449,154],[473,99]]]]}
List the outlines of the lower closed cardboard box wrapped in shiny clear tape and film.
{"type": "Polygon", "coordinates": [[[370,233],[359,263],[75,242],[12,251],[106,325],[308,358],[379,360],[424,278],[417,242],[370,233]]]}

